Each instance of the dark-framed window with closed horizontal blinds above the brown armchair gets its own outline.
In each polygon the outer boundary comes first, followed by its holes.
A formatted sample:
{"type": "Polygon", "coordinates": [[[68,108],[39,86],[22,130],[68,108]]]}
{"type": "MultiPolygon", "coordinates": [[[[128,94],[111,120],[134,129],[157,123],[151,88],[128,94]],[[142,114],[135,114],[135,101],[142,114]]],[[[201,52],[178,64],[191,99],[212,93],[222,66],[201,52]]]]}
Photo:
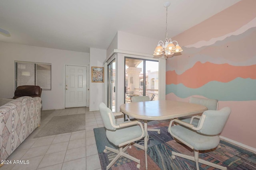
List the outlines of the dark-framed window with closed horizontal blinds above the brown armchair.
{"type": "Polygon", "coordinates": [[[33,85],[40,86],[44,90],[51,90],[51,64],[15,61],[15,67],[16,88],[33,85]]]}

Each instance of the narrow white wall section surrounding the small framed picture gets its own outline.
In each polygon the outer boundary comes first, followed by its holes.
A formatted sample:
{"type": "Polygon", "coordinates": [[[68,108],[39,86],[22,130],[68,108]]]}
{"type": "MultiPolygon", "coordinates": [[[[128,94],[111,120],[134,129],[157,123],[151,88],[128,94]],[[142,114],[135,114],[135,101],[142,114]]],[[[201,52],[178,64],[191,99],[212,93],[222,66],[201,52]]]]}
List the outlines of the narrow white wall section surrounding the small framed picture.
{"type": "MultiPolygon", "coordinates": [[[[103,62],[106,59],[106,50],[90,48],[90,102],[89,110],[99,110],[99,105],[101,102],[104,102],[104,83],[92,82],[91,67],[104,67],[103,62]]],[[[107,70],[104,70],[104,75],[107,74],[107,70]]],[[[104,79],[106,83],[107,80],[104,79]]]]}

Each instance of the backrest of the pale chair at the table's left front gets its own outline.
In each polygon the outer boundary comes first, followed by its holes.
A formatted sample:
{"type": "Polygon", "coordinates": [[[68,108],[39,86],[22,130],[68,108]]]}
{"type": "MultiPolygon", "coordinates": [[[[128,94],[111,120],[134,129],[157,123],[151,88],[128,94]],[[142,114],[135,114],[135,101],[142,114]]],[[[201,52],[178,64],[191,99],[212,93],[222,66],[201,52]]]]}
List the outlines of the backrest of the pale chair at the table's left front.
{"type": "Polygon", "coordinates": [[[108,108],[104,103],[100,103],[99,109],[100,109],[100,115],[102,117],[102,121],[106,129],[112,130],[112,131],[116,130],[116,128],[112,127],[111,125],[111,122],[114,125],[116,125],[116,122],[115,122],[115,117],[112,111],[110,110],[110,108],[108,108]],[[109,117],[109,113],[111,115],[111,118],[109,117]]]}

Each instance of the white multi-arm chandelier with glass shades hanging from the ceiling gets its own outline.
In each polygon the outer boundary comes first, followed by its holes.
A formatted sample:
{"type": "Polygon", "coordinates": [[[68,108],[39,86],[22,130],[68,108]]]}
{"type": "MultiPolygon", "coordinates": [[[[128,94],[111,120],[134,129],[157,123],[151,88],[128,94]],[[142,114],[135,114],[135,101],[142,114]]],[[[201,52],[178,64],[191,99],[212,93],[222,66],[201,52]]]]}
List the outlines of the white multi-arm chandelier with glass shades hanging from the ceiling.
{"type": "Polygon", "coordinates": [[[168,22],[167,22],[167,12],[168,12],[168,7],[170,6],[170,2],[165,2],[164,7],[166,8],[166,38],[165,38],[165,43],[163,41],[159,41],[158,45],[154,51],[154,56],[156,57],[161,57],[164,55],[165,57],[169,58],[172,57],[174,53],[178,53],[183,51],[178,44],[177,41],[172,41],[172,39],[168,39],[168,33],[167,33],[167,27],[168,27],[168,22]],[[176,45],[174,45],[174,42],[176,45]]]}

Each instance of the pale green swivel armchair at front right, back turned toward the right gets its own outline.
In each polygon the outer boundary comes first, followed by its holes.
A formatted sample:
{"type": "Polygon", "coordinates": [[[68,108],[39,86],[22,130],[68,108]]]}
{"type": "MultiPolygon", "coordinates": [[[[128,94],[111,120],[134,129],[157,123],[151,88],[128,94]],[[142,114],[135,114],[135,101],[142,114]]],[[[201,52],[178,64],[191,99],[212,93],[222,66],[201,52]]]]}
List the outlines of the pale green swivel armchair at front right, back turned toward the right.
{"type": "Polygon", "coordinates": [[[197,170],[199,170],[198,162],[214,168],[226,170],[227,168],[224,166],[199,159],[199,150],[214,149],[219,145],[220,139],[218,134],[222,132],[230,113],[230,107],[224,107],[219,111],[206,110],[200,117],[197,127],[184,121],[180,121],[179,119],[170,121],[168,132],[172,137],[178,139],[179,142],[184,143],[194,150],[194,156],[188,156],[172,151],[172,159],[175,159],[175,156],[180,156],[195,161],[197,170]],[[180,125],[172,126],[173,122],[180,125]]]}

